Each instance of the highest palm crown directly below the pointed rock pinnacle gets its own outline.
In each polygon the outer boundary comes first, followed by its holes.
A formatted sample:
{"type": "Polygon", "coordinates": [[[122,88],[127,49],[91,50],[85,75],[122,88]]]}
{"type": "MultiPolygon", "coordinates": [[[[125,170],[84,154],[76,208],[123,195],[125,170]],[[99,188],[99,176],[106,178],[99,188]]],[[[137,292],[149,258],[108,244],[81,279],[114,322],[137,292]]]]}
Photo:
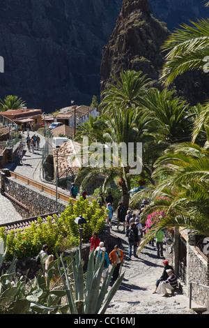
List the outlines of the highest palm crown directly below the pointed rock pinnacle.
{"type": "Polygon", "coordinates": [[[102,92],[100,109],[111,112],[113,107],[137,107],[144,95],[144,90],[149,82],[146,75],[134,70],[121,71],[120,77],[112,77],[114,82],[107,84],[107,89],[102,92]]]}

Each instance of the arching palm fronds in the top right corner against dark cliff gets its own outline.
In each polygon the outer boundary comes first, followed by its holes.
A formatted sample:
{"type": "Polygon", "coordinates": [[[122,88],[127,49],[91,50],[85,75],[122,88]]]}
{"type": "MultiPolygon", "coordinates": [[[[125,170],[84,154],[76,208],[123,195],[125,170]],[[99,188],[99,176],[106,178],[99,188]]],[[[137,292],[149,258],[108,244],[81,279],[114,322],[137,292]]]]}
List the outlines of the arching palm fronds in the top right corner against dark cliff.
{"type": "Polygon", "coordinates": [[[165,85],[171,84],[187,70],[207,70],[209,56],[209,20],[191,22],[191,26],[183,24],[176,29],[163,45],[168,52],[162,68],[161,80],[165,85]]]}

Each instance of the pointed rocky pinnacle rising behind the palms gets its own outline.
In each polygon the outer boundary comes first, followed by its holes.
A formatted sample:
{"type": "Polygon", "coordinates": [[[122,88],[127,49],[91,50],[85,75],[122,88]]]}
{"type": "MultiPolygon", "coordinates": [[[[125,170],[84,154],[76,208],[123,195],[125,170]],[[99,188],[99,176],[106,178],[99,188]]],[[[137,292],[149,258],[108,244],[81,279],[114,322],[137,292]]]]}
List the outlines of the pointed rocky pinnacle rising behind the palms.
{"type": "Polygon", "coordinates": [[[150,14],[148,0],[124,0],[109,43],[103,48],[101,91],[121,70],[142,70],[158,84],[161,47],[169,31],[150,14]]]}

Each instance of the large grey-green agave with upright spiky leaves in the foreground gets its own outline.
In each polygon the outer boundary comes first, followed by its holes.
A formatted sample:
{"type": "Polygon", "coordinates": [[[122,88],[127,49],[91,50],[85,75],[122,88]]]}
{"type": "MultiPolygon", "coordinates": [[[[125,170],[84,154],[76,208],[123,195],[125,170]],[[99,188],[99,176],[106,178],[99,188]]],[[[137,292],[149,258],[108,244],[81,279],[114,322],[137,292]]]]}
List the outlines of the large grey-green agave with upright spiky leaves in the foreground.
{"type": "Polygon", "coordinates": [[[70,314],[104,314],[109,302],[121,285],[125,272],[121,276],[118,276],[118,279],[108,292],[115,264],[112,266],[109,274],[106,275],[100,288],[104,267],[104,256],[100,260],[100,253],[96,255],[95,251],[91,252],[87,271],[84,274],[82,258],[80,253],[77,252],[75,260],[72,261],[72,280],[68,276],[68,269],[65,267],[62,255],[59,258],[58,264],[63,287],[66,292],[67,305],[65,306],[65,310],[68,310],[70,314]]]}

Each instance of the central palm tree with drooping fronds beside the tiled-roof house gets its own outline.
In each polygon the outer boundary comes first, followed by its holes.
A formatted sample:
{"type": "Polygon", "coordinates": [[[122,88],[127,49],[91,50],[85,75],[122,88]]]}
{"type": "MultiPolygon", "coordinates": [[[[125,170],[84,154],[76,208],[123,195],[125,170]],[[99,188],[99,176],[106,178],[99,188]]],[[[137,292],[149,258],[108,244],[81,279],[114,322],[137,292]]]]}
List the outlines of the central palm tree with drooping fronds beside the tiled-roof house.
{"type": "MultiPolygon", "coordinates": [[[[155,140],[155,135],[149,131],[150,117],[148,113],[144,114],[133,109],[126,108],[123,110],[114,107],[112,117],[108,114],[101,115],[100,124],[102,126],[102,129],[100,128],[100,133],[98,133],[98,128],[95,128],[96,124],[94,125],[95,140],[104,144],[104,147],[106,148],[105,159],[111,161],[118,159],[118,165],[110,165],[110,163],[105,165],[105,162],[102,162],[104,165],[100,167],[82,167],[77,174],[76,181],[82,181],[80,188],[83,190],[90,181],[99,175],[105,176],[103,189],[108,186],[111,181],[118,179],[122,189],[122,201],[125,204],[125,207],[128,208],[130,199],[130,194],[128,193],[128,191],[130,191],[130,170],[132,167],[130,166],[127,157],[123,158],[120,152],[118,155],[111,155],[111,158],[107,157],[107,153],[114,143],[118,145],[124,143],[128,150],[128,144],[129,142],[132,142],[135,145],[134,160],[137,161],[137,142],[148,144],[150,140],[155,140]]],[[[85,129],[81,131],[80,137],[82,137],[82,132],[84,133],[83,136],[86,137],[85,129]]],[[[94,131],[92,131],[92,135],[93,132],[94,131]]],[[[102,161],[103,159],[102,155],[102,161]]]]}

